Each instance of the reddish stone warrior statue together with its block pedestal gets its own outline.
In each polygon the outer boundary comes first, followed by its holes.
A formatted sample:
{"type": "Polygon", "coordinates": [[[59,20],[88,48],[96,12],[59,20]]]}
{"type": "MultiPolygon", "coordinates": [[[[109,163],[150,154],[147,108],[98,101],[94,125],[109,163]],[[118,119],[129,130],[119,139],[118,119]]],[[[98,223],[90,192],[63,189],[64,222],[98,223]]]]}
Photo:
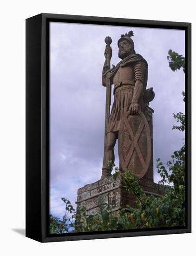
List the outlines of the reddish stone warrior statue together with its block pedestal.
{"type": "Polygon", "coordinates": [[[77,209],[86,208],[87,215],[98,214],[100,204],[110,203],[111,215],[120,216],[127,205],[135,208],[133,191],[127,192],[121,179],[111,176],[114,163],[114,146],[118,139],[119,169],[131,171],[138,177],[146,195],[164,195],[153,182],[152,114],[149,102],[154,99],[152,88],[146,89],[148,63],[135,53],[131,37],[133,32],[122,34],[118,40],[116,67],[110,67],[111,37],[105,38],[105,63],[102,84],[106,86],[105,143],[101,179],[78,189],[77,209]],[[111,85],[114,85],[114,102],[111,108],[111,85]]]}

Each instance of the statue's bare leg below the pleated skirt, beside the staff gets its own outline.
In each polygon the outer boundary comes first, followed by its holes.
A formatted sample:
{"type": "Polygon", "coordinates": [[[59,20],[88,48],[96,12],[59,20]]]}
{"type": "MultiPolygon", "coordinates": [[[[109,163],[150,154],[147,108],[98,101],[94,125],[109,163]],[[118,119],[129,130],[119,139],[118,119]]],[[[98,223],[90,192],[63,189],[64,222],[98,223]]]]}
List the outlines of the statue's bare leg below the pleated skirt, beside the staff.
{"type": "Polygon", "coordinates": [[[101,179],[111,176],[111,167],[108,166],[108,162],[114,163],[114,146],[117,141],[117,134],[115,132],[109,132],[106,136],[104,162],[102,168],[101,179]]]}

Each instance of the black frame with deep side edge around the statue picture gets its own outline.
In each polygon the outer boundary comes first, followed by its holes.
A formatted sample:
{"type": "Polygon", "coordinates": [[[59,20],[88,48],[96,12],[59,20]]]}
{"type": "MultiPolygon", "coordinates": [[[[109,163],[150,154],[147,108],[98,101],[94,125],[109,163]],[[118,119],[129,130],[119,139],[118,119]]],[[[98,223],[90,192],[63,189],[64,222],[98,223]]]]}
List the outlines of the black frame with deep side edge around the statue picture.
{"type": "Polygon", "coordinates": [[[26,236],[57,242],[191,232],[191,23],[41,13],[26,19],[26,236]],[[186,226],[49,235],[49,22],[185,31],[186,226]]]}

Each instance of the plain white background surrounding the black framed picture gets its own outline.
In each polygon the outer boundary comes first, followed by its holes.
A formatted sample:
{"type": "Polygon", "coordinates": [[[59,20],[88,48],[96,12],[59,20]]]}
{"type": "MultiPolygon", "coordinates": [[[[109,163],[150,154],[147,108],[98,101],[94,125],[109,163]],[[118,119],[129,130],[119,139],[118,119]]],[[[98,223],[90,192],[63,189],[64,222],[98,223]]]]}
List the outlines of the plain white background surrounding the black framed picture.
{"type": "MultiPolygon", "coordinates": [[[[196,57],[194,1],[34,0],[0,4],[0,251],[1,255],[194,255],[196,241],[195,164],[192,165],[192,234],[143,236],[41,244],[25,229],[25,19],[62,13],[144,20],[192,22],[192,59],[196,57]]],[[[196,69],[193,62],[192,70],[196,69]]],[[[193,108],[196,84],[192,80],[193,108]]],[[[193,149],[195,140],[193,115],[193,149]]],[[[194,159],[195,150],[192,157],[194,159]]]]}

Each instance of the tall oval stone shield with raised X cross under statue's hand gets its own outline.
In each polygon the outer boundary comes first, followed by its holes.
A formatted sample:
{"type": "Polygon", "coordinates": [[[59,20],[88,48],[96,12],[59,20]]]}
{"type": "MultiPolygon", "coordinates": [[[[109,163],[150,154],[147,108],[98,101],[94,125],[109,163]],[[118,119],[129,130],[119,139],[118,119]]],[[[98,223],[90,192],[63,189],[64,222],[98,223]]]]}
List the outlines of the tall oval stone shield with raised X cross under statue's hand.
{"type": "Polygon", "coordinates": [[[123,171],[132,171],[137,177],[146,174],[151,158],[150,127],[145,115],[124,116],[118,132],[118,155],[123,171]]]}

